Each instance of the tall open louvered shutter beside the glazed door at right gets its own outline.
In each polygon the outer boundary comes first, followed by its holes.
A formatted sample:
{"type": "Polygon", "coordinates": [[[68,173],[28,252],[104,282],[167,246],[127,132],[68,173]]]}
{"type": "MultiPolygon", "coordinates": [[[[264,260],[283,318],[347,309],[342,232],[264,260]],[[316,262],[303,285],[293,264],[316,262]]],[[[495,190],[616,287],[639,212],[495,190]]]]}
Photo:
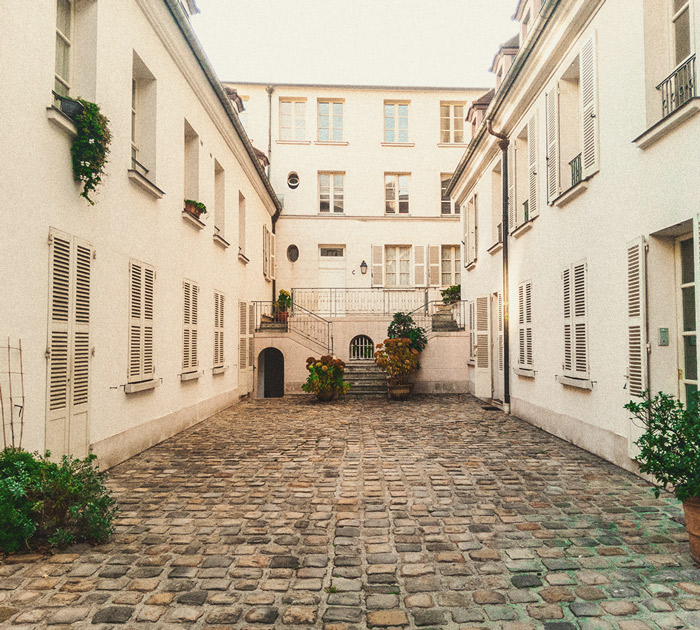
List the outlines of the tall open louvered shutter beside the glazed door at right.
{"type": "Polygon", "coordinates": [[[646,260],[644,238],[627,243],[627,383],[630,396],[647,389],[646,260]]]}

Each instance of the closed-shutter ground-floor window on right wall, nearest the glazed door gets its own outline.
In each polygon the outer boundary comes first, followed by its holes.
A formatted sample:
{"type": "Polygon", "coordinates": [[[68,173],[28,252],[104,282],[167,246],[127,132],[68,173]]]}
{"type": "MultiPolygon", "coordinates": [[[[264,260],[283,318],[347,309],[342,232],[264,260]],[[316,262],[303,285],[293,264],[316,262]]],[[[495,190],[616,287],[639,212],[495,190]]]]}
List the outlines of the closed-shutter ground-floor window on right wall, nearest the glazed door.
{"type": "Polygon", "coordinates": [[[562,273],[564,289],[564,376],[587,379],[588,305],[586,263],[571,265],[562,273]]]}

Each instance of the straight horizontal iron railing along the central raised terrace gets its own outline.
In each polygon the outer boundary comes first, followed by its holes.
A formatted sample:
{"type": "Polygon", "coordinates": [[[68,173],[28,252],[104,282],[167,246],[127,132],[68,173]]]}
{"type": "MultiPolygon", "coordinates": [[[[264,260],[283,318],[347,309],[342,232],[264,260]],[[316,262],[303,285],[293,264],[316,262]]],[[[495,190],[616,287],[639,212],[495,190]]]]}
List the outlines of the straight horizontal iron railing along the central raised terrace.
{"type": "Polygon", "coordinates": [[[428,289],[292,289],[292,302],[325,317],[393,315],[428,303],[428,289]]]}

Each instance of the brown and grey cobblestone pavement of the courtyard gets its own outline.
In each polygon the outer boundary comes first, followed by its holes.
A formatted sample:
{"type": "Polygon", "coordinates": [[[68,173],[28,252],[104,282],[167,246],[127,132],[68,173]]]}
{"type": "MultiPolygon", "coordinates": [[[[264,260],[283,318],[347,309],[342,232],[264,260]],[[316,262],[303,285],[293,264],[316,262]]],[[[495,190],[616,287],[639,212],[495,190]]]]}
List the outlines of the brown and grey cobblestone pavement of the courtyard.
{"type": "Polygon", "coordinates": [[[700,628],[677,502],[470,397],[248,401],[110,484],[112,542],[0,563],[0,625],[700,628]]]}

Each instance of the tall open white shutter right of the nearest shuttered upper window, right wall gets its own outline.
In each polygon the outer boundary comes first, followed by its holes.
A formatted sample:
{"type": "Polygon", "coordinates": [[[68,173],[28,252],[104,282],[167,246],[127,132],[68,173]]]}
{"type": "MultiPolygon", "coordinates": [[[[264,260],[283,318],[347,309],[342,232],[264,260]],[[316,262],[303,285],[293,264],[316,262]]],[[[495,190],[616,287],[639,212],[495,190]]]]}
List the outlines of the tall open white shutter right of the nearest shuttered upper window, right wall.
{"type": "Polygon", "coordinates": [[[598,78],[595,37],[581,47],[581,156],[582,176],[590,177],[600,169],[598,147],[598,78]]]}

